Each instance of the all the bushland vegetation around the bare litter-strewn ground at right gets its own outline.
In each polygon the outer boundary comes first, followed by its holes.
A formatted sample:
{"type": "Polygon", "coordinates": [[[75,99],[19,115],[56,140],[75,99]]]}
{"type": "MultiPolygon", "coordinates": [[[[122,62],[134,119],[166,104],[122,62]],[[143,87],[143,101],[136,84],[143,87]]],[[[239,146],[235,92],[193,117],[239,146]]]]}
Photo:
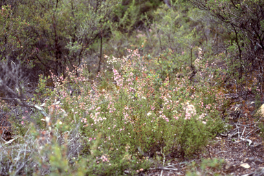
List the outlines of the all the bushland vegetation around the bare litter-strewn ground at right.
{"type": "Polygon", "coordinates": [[[263,1],[0,5],[0,175],[137,175],[171,153],[211,158],[230,128],[227,92],[261,98],[263,1]]]}

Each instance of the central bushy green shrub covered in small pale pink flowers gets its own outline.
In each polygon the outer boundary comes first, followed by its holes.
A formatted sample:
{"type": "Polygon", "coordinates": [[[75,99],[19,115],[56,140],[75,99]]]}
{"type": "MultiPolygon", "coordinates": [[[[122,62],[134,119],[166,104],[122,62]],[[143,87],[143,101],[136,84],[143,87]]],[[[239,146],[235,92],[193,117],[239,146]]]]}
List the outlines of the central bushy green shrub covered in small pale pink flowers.
{"type": "Polygon", "coordinates": [[[124,58],[106,56],[113,70],[108,90],[90,83],[85,65],[69,72],[69,79],[53,76],[56,94],[67,111],[65,122],[82,124],[85,151],[91,154],[98,134],[100,158],[108,152],[110,160],[125,153],[126,146],[130,154],[148,157],[161,148],[184,157],[206,146],[223,128],[219,118],[223,98],[206,79],[211,76],[208,65],[197,58],[198,83],[176,74],[157,84],[158,75],[147,69],[138,51],[129,53],[124,58]]]}

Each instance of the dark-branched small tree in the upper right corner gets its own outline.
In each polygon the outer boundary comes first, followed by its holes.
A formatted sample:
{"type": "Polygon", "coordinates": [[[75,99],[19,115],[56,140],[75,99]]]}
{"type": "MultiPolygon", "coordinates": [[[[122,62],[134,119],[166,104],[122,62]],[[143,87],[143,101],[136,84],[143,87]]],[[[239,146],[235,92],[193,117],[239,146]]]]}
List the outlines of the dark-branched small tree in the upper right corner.
{"type": "Polygon", "coordinates": [[[225,26],[230,34],[230,40],[225,43],[225,52],[236,58],[239,69],[239,78],[252,65],[258,68],[263,78],[264,54],[264,1],[261,0],[188,0],[201,10],[207,10],[216,19],[217,23],[225,26]]]}

